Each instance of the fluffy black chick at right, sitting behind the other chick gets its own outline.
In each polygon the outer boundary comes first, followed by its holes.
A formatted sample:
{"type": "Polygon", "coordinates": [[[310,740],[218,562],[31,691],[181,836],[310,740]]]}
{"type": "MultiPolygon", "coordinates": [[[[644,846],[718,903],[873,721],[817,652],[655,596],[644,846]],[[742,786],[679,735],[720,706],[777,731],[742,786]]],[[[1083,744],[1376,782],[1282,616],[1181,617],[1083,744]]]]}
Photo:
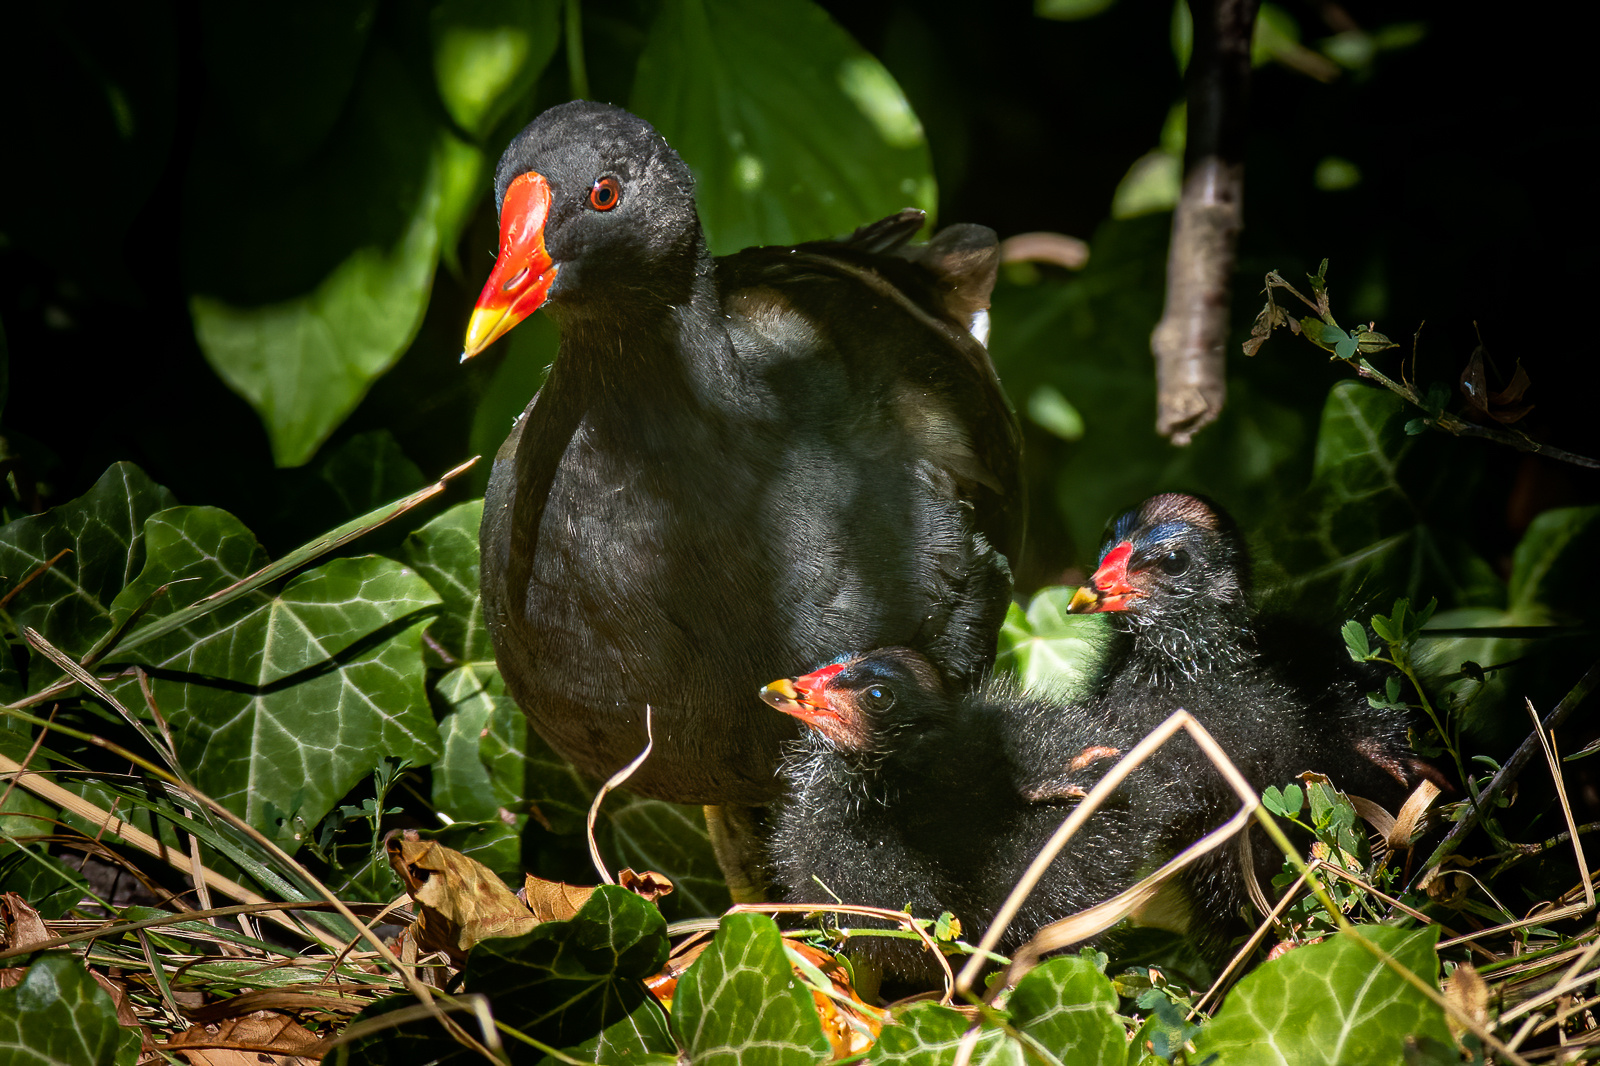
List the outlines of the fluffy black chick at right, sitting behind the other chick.
{"type": "MultiPolygon", "coordinates": [[[[1243,539],[1210,501],[1166,493],[1120,515],[1099,570],[1069,610],[1110,611],[1112,643],[1090,696],[1109,727],[1144,733],[1184,707],[1258,789],[1315,770],[1389,810],[1421,776],[1434,776],[1410,752],[1408,717],[1366,701],[1374,685],[1334,632],[1307,635],[1256,611],[1243,539]]],[[[1059,741],[1051,736],[1043,723],[1022,747],[1043,752],[1027,771],[1030,779],[1048,783],[1053,773],[1050,752],[1059,741]]],[[[1170,826],[1171,847],[1187,845],[1238,808],[1232,789],[1184,736],[1141,773],[1192,789],[1181,804],[1186,813],[1170,826]]],[[[1262,887],[1280,868],[1275,848],[1264,848],[1270,845],[1258,834],[1262,887]]],[[[1203,863],[1189,880],[1213,911],[1232,916],[1245,901],[1230,855],[1203,863]]]]}

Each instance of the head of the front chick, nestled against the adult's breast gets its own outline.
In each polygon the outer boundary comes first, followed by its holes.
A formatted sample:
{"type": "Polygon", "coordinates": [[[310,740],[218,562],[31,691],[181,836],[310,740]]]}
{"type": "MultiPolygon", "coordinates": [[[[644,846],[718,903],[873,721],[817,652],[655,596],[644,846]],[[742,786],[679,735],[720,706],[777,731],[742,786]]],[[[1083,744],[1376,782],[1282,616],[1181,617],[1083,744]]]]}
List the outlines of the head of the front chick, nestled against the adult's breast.
{"type": "Polygon", "coordinates": [[[800,719],[819,743],[859,770],[894,754],[914,760],[917,741],[954,723],[958,699],[910,648],[878,648],[762,688],[762,699],[800,719]]]}

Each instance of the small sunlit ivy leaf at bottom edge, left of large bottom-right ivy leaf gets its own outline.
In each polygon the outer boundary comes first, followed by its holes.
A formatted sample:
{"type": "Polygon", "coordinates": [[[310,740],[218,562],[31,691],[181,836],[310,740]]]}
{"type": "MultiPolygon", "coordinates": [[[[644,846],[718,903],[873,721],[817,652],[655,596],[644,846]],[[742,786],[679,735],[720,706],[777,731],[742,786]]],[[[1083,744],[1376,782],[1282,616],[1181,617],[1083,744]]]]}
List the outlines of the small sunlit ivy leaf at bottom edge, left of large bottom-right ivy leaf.
{"type": "Polygon", "coordinates": [[[1117,1021],[1117,992],[1082,956],[1046,959],[1018,981],[1011,1023],[1062,1061],[1122,1066],[1128,1058],[1128,1032],[1117,1021]]]}

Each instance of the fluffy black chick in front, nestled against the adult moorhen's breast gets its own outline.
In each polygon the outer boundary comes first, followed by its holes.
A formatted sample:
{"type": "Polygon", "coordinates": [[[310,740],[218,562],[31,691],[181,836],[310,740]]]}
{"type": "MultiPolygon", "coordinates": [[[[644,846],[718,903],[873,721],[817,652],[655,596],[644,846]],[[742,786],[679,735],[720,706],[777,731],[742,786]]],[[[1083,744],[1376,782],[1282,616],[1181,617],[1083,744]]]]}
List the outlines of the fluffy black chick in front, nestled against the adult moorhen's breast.
{"type": "MultiPolygon", "coordinates": [[[[786,898],[909,908],[917,917],[950,911],[973,941],[1067,816],[1070,799],[1086,792],[1110,765],[1106,755],[1115,754],[1107,741],[1117,738],[1075,704],[1022,696],[1005,682],[950,693],[909,648],[880,648],[773,682],[762,698],[810,727],[786,755],[789,795],[771,840],[786,898]],[[1034,717],[1048,717],[1056,739],[1072,747],[1061,770],[1075,763],[1075,779],[1058,783],[1051,800],[1024,795],[1016,773],[1016,723],[1034,717]]],[[[1067,842],[1000,951],[1134,884],[1160,858],[1160,820],[1136,816],[1128,797],[1114,795],[1067,842]]],[[[938,975],[917,941],[856,938],[851,954],[909,983],[938,975]]]]}

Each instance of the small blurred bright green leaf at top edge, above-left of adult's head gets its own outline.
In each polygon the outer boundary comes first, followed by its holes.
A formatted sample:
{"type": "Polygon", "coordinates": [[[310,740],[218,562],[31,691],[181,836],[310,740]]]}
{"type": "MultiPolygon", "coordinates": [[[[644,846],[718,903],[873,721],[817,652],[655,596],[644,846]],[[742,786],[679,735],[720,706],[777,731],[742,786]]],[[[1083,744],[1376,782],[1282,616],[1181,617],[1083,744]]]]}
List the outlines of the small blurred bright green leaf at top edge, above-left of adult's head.
{"type": "Polygon", "coordinates": [[[560,40],[558,0],[445,0],[429,13],[450,117],[482,139],[533,91],[560,40]]]}

